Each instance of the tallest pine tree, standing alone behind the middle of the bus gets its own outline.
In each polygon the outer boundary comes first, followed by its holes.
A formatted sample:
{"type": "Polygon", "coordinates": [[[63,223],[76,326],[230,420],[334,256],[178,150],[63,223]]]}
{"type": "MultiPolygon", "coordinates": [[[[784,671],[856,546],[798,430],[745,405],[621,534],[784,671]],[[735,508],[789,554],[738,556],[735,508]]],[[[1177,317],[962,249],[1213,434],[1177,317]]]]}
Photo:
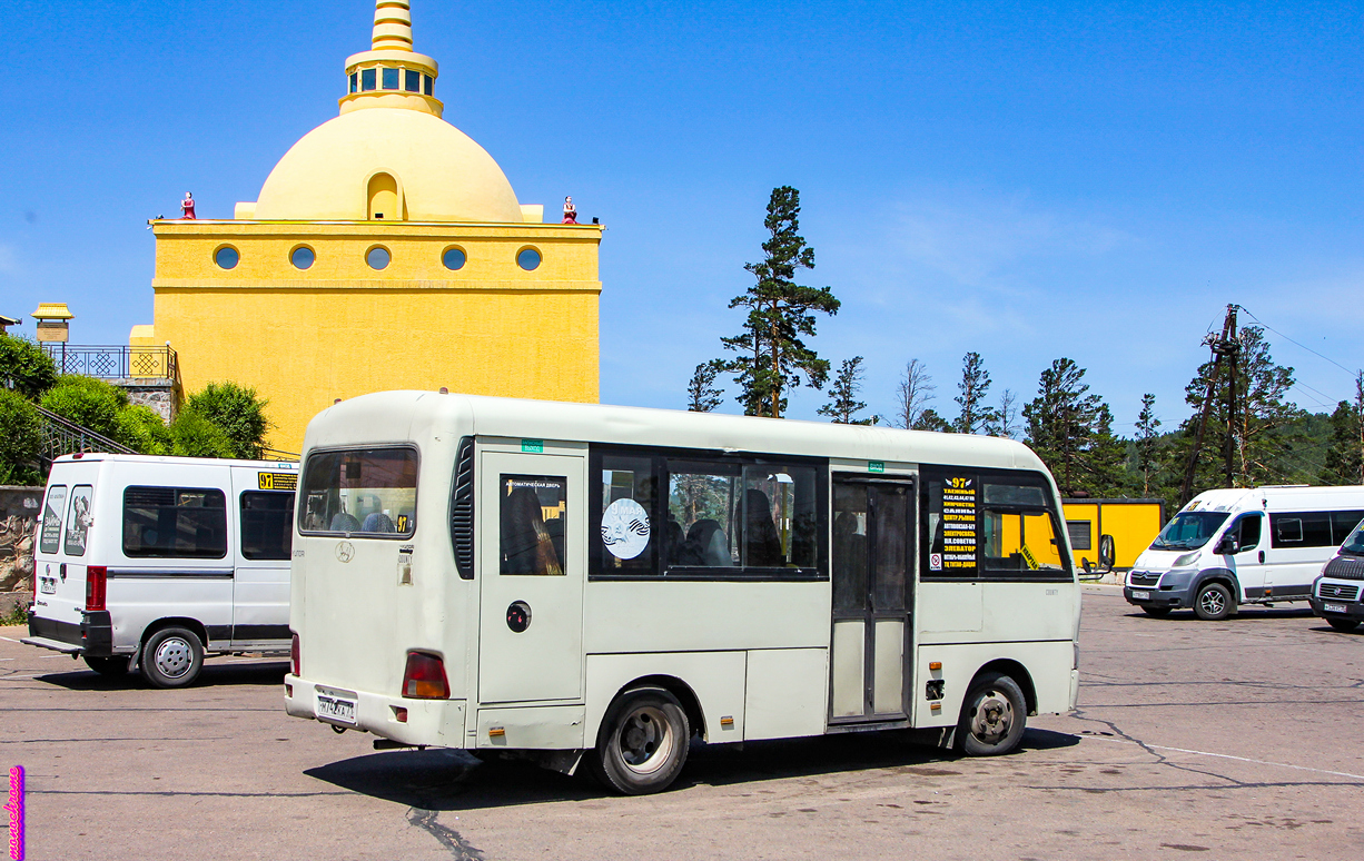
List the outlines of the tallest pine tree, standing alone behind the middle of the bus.
{"type": "Polygon", "coordinates": [[[797,269],[814,269],[814,248],[799,235],[801,192],[790,186],[772,190],[764,227],[771,233],[762,243],[765,257],[745,269],[756,284],[730,302],[731,308],[747,308],[743,332],[720,338],[738,356],[724,363],[739,386],[738,401],[745,415],[782,418],[786,393],[802,383],[820,389],[829,375],[829,363],[820,359],[802,338],[814,337],[814,314],[837,314],[839,300],[832,288],[795,282],[797,269]]]}

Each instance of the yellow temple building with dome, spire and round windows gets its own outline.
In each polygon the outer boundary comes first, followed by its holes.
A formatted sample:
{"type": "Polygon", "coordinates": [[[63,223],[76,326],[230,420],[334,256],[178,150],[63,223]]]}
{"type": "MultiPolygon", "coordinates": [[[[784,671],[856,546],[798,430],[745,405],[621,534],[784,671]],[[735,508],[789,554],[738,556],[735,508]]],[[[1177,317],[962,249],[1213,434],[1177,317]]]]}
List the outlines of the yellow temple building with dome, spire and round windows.
{"type": "Polygon", "coordinates": [[[406,0],[378,0],[340,116],[285,153],[233,220],[155,220],[154,323],[186,392],[269,398],[299,452],[336,398],[439,389],[596,401],[602,228],[544,224],[442,119],[406,0]]]}

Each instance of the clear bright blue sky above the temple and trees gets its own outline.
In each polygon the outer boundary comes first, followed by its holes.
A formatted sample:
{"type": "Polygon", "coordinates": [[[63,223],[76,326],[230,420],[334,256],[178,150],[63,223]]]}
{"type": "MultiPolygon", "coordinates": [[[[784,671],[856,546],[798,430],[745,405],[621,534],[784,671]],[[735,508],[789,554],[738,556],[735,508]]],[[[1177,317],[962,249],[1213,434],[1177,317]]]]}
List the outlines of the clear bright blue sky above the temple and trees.
{"type": "MultiPolygon", "coordinates": [[[[412,3],[445,117],[522,203],[572,194],[608,228],[603,401],[683,405],[780,184],[803,282],[843,300],[814,345],[866,357],[874,412],[918,357],[955,415],[977,351],[992,396],[1031,398],[1069,356],[1120,433],[1143,392],[1173,424],[1229,302],[1282,333],[1305,408],[1352,378],[1285,337],[1364,366],[1359,4],[412,3]]],[[[187,190],[201,217],[254,201],[336,115],[371,20],[368,0],[11,7],[0,314],[67,302],[74,341],[127,342],[151,322],[146,218],[187,190]]]]}

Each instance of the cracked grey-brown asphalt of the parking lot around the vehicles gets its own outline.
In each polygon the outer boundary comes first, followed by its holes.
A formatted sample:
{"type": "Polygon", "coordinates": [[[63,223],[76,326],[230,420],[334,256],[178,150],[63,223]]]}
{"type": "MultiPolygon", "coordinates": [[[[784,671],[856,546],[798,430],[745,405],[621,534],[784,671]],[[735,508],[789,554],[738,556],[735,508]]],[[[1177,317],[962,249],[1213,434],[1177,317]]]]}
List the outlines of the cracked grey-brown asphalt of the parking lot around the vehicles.
{"type": "Polygon", "coordinates": [[[694,745],[675,789],[376,753],[282,711],[285,663],[187,690],[0,629],[29,858],[1344,858],[1364,850],[1364,636],[1299,609],[1151,619],[1084,598],[1080,708],[960,759],[895,734],[694,745]]]}

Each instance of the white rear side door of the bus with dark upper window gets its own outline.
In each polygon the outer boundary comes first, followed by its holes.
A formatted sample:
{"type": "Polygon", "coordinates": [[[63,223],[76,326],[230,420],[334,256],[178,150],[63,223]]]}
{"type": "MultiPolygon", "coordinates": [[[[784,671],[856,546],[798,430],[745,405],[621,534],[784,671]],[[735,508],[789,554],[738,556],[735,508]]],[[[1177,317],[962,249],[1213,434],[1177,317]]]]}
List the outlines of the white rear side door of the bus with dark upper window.
{"type": "Polygon", "coordinates": [[[585,458],[484,452],[479,701],[582,697],[585,458]]]}

